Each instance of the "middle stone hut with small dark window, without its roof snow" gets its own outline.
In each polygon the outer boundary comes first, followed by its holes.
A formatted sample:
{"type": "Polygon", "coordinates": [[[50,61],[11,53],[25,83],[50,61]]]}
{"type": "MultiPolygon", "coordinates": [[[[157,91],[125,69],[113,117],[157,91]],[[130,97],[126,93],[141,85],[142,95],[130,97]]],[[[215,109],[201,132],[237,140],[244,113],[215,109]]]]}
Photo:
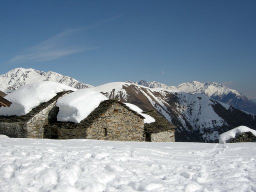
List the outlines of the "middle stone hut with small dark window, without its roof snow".
{"type": "MultiPolygon", "coordinates": [[[[55,107],[56,116],[58,107],[55,107]]],[[[80,123],[52,121],[44,126],[45,138],[90,138],[144,141],[144,117],[115,99],[100,102],[80,123]]]]}

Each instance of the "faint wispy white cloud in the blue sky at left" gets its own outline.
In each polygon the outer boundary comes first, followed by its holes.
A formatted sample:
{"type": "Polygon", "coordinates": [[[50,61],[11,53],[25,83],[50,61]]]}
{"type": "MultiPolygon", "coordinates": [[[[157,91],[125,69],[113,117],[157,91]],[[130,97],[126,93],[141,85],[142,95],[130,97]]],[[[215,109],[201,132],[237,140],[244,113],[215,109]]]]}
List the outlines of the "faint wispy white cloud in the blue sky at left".
{"type": "Polygon", "coordinates": [[[38,44],[27,48],[7,63],[43,62],[54,60],[66,55],[84,52],[98,47],[86,47],[72,43],[72,38],[84,28],[64,30],[38,44]]]}

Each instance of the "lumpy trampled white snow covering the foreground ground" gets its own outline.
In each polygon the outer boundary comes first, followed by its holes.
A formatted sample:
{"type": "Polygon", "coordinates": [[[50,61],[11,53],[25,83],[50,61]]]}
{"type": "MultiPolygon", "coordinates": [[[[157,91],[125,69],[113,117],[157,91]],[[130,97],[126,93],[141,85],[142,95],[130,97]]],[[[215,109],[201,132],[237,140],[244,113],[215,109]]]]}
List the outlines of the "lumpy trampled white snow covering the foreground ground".
{"type": "Polygon", "coordinates": [[[256,191],[255,148],[0,136],[0,191],[256,191]]]}

